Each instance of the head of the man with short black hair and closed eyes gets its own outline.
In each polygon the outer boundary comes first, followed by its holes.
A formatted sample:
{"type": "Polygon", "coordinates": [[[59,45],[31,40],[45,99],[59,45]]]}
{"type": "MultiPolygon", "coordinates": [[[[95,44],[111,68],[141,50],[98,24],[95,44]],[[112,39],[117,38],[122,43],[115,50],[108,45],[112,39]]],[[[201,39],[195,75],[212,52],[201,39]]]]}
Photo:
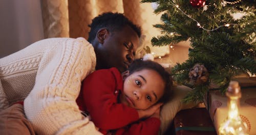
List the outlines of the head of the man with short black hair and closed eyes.
{"type": "Polygon", "coordinates": [[[115,66],[120,72],[134,59],[140,28],[122,14],[105,13],[93,19],[88,41],[96,52],[96,70],[115,66]]]}

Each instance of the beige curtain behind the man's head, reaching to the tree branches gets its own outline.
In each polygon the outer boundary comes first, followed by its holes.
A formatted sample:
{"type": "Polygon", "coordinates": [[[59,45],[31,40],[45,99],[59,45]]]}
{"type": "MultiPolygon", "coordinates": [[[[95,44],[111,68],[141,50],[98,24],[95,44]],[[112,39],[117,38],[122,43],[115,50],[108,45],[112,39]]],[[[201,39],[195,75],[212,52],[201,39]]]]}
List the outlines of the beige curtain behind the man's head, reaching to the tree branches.
{"type": "Polygon", "coordinates": [[[141,48],[149,46],[158,56],[169,53],[169,48],[152,47],[151,38],[160,34],[152,25],[160,22],[160,15],[153,14],[151,4],[141,4],[139,0],[41,0],[45,38],[84,37],[92,19],[103,12],[119,12],[142,28],[141,48]]]}

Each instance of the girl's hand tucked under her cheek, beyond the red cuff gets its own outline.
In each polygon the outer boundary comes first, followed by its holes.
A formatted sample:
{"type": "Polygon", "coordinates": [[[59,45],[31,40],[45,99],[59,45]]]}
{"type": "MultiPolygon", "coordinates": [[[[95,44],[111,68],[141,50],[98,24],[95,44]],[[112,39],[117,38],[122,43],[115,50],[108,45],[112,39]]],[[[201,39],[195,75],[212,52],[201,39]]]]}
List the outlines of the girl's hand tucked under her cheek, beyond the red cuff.
{"type": "MultiPolygon", "coordinates": [[[[163,105],[163,103],[158,103],[158,104],[153,105],[150,108],[147,108],[145,110],[137,110],[138,113],[139,113],[139,119],[141,119],[141,118],[148,118],[148,117],[152,116],[153,114],[155,114],[157,110],[159,110],[159,112],[156,113],[155,115],[157,115],[157,114],[160,115],[160,106],[161,105],[163,105]]],[[[155,115],[154,115],[154,117],[157,117],[155,115]]]]}

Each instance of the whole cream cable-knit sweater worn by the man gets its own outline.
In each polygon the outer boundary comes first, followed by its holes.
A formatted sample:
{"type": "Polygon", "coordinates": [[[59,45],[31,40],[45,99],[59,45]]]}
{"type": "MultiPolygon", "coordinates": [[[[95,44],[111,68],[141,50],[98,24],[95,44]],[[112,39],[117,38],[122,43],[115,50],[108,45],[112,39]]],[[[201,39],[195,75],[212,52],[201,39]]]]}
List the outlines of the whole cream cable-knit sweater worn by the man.
{"type": "Polygon", "coordinates": [[[81,80],[96,65],[94,49],[84,38],[41,40],[0,63],[2,89],[10,104],[32,89],[24,108],[37,134],[101,134],[75,102],[81,80]]]}

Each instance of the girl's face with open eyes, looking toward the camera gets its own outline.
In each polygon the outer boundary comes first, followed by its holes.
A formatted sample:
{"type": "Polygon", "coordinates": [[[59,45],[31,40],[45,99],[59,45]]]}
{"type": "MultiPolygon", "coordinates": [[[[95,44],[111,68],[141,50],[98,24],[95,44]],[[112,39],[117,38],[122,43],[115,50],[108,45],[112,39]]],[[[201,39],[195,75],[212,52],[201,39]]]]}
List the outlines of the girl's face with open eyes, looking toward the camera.
{"type": "Polygon", "coordinates": [[[163,93],[161,76],[154,70],[144,69],[125,78],[120,101],[135,109],[146,109],[154,105],[163,93]]]}

